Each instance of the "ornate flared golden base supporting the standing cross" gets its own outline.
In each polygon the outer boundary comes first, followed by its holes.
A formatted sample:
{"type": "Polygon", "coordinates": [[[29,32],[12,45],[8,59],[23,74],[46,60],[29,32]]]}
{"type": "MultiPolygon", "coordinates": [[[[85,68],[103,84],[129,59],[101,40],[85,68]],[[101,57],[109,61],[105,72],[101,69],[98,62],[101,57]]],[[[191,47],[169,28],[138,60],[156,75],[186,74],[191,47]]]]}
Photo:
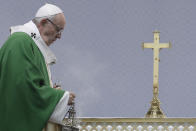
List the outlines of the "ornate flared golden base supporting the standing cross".
{"type": "Polygon", "coordinates": [[[160,101],[158,97],[153,97],[151,107],[146,113],[146,118],[166,118],[163,111],[160,108],[160,101]]]}

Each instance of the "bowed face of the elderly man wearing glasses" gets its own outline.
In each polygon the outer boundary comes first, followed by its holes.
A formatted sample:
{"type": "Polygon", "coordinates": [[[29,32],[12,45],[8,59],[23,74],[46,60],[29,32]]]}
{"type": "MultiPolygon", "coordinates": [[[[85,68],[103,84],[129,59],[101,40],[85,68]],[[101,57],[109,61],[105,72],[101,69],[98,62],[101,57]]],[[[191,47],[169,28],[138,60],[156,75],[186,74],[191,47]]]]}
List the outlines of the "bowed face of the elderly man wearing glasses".
{"type": "Polygon", "coordinates": [[[65,17],[61,13],[56,15],[53,20],[45,19],[40,34],[45,43],[49,46],[56,41],[56,39],[61,38],[61,32],[64,30],[64,27],[65,17]]]}

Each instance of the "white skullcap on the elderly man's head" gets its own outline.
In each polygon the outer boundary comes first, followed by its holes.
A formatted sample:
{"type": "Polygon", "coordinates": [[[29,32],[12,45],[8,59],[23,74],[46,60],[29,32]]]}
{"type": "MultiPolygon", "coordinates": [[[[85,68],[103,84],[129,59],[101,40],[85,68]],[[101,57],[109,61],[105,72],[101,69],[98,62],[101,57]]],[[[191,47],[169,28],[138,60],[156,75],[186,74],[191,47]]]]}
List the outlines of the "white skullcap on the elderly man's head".
{"type": "Polygon", "coordinates": [[[63,11],[59,7],[57,7],[56,5],[46,3],[44,6],[39,8],[35,17],[46,17],[60,13],[63,13],[63,11]]]}

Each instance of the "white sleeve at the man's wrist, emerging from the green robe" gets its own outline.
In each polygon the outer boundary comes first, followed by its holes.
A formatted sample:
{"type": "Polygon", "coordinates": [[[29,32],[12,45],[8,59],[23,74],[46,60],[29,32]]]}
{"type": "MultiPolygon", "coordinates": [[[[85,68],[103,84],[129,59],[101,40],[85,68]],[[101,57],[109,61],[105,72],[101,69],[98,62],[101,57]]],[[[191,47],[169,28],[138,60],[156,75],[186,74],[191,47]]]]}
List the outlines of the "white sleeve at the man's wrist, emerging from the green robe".
{"type": "Polygon", "coordinates": [[[62,124],[64,116],[67,112],[68,100],[69,100],[69,92],[66,91],[63,97],[59,100],[58,104],[56,105],[52,115],[50,116],[49,119],[50,122],[62,124]]]}

